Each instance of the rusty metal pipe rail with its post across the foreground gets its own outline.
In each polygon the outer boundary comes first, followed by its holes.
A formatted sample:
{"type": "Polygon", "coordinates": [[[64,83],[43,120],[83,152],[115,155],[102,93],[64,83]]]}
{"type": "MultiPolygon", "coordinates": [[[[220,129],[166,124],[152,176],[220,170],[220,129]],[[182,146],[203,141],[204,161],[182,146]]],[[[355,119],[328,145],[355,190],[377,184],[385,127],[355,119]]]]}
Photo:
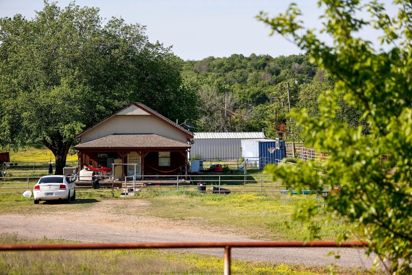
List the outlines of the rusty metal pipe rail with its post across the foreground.
{"type": "Polygon", "coordinates": [[[233,247],[368,247],[367,242],[157,242],[108,244],[2,244],[0,251],[78,250],[78,249],[167,249],[167,248],[224,248],[224,275],[230,275],[233,247]]]}

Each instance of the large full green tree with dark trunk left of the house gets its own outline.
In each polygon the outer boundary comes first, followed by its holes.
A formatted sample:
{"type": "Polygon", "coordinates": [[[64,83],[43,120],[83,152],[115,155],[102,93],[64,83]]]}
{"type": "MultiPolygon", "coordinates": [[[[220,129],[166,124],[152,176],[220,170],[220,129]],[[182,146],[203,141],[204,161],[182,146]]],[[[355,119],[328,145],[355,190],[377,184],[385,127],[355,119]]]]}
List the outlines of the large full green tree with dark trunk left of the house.
{"type": "Polygon", "coordinates": [[[0,19],[0,145],[43,143],[56,174],[75,134],[131,101],[180,120],[195,106],[170,48],[150,43],[139,24],[102,26],[98,12],[44,2],[32,20],[0,19]]]}

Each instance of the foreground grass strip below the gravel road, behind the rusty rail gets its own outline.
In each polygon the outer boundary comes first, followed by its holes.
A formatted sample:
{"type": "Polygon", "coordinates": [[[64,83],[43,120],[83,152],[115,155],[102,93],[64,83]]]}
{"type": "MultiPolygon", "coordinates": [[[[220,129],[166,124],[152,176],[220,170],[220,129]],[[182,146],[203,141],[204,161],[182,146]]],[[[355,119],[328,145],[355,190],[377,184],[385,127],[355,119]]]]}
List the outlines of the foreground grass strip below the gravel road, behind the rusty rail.
{"type": "MultiPolygon", "coordinates": [[[[66,243],[1,234],[0,244],[66,243]]],[[[321,275],[326,267],[232,260],[232,274],[321,275]]],[[[222,274],[223,259],[155,249],[0,252],[0,274],[222,274]]],[[[354,275],[337,268],[337,274],[354,275]]]]}

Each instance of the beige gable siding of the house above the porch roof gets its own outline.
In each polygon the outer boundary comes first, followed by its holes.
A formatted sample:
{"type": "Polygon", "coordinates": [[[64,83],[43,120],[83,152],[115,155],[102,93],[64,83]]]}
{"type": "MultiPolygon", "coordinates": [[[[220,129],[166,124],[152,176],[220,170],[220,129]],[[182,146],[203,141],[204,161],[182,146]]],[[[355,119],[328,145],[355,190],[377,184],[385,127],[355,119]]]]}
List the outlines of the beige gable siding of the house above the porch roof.
{"type": "Polygon", "coordinates": [[[115,115],[82,134],[81,143],[110,134],[158,134],[177,141],[187,142],[185,133],[153,115],[115,115]]]}

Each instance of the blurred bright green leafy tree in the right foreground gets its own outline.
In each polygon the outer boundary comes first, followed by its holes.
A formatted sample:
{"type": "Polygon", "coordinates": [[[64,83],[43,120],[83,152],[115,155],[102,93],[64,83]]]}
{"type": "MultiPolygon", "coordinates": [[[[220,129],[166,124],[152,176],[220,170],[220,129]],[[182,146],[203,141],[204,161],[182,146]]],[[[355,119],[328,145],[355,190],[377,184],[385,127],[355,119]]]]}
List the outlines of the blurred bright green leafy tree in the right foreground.
{"type": "MultiPolygon", "coordinates": [[[[294,4],[275,18],[264,13],[258,18],[272,27],[272,33],[294,40],[315,65],[336,80],[334,89],[322,100],[320,117],[309,116],[307,110],[296,114],[307,136],[306,145],[328,150],[331,159],[300,163],[302,169],[297,172],[286,165],[268,170],[297,190],[307,184],[312,188],[342,185],[337,194],[328,196],[326,210],[318,210],[314,202],[297,209],[294,218],[307,222],[315,215],[344,218],[355,225],[353,234],[370,243],[367,253],[378,255],[375,267],[381,263],[388,274],[411,274],[412,4],[406,0],[394,4],[398,13],[391,17],[376,1],[319,1],[319,6],[326,7],[323,32],[333,38],[328,44],[313,31],[300,35],[304,26],[294,4]],[[363,11],[369,12],[371,19],[358,18],[363,11]],[[381,43],[390,49],[374,49],[371,42],[360,38],[359,31],[367,27],[380,30],[381,43]],[[361,120],[367,120],[369,135],[362,134],[362,124],[349,128],[337,116],[342,96],[361,113],[361,120]],[[388,168],[393,169],[393,176],[379,165],[381,154],[390,155],[388,168]],[[322,177],[313,168],[328,171],[328,176],[322,177]]],[[[309,228],[316,237],[319,228],[309,228]]]]}

